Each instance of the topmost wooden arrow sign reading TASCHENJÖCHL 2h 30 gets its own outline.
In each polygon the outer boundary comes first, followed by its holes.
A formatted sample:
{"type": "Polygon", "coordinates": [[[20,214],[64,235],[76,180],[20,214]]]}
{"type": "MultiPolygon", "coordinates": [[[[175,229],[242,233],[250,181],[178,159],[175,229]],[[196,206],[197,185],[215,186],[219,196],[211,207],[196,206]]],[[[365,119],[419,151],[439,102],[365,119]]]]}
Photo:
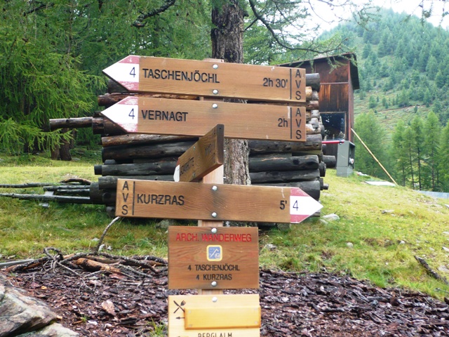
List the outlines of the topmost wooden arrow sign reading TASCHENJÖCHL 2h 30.
{"type": "Polygon", "coordinates": [[[305,70],[130,55],[103,72],[134,92],[305,102],[305,70]]]}

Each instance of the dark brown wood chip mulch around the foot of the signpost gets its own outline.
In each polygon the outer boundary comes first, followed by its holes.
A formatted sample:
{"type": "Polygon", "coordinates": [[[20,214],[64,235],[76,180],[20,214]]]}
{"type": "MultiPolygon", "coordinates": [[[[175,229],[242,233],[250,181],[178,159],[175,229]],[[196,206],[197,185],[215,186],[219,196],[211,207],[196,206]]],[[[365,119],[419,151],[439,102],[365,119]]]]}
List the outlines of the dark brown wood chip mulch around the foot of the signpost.
{"type": "MultiPolygon", "coordinates": [[[[162,268],[145,279],[109,272],[27,271],[11,284],[40,298],[80,336],[152,336],[167,324],[167,296],[195,291],[167,289],[162,268]]],[[[225,291],[226,292],[226,291],[225,291]]],[[[261,336],[449,336],[449,300],[380,289],[328,273],[260,271],[261,336]]]]}

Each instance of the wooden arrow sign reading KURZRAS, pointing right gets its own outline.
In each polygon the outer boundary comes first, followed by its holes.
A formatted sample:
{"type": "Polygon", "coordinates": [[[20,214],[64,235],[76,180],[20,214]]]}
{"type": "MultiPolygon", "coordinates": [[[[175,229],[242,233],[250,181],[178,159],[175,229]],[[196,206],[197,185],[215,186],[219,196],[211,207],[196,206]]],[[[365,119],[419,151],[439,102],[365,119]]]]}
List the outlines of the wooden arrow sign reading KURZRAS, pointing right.
{"type": "Polygon", "coordinates": [[[300,223],[321,207],[297,187],[117,181],[123,217],[300,223]]]}

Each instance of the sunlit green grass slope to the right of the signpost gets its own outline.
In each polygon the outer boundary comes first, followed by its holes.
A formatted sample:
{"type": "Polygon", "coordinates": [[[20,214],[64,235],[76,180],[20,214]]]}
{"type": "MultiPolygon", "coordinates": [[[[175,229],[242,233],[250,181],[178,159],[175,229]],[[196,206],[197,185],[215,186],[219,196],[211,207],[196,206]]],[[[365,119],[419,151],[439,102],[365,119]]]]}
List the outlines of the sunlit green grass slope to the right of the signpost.
{"type": "Polygon", "coordinates": [[[260,263],[288,270],[311,270],[369,279],[378,286],[402,286],[442,298],[449,287],[427,275],[420,256],[441,276],[449,269],[448,200],[438,201],[405,187],[372,186],[366,177],[339,178],[326,172],[322,214],[340,220],[309,219],[290,232],[262,235],[260,263]],[[276,251],[264,249],[274,244],[276,251]],[[442,289],[438,290],[438,289],[442,289]]]}

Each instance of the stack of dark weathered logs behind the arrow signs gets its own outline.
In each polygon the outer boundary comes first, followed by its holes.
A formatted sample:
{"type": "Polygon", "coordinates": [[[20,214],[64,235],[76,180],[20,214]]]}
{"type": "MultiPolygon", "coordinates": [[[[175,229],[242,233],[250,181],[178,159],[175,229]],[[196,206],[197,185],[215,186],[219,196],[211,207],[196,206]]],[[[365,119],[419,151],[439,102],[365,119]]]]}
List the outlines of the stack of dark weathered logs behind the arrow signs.
{"type": "MultiPolygon", "coordinates": [[[[249,171],[253,185],[300,187],[319,200],[321,190],[327,189],[327,185],[323,183],[326,164],[322,152],[324,128],[320,123],[318,110],[319,74],[307,74],[306,86],[307,102],[295,105],[306,106],[307,141],[248,140],[249,171]]],[[[130,93],[111,80],[108,93],[98,96],[98,103],[107,108],[130,95],[177,100],[199,99],[191,95],[130,93]]],[[[264,102],[248,101],[248,104],[261,103],[264,102]]],[[[90,197],[94,204],[105,204],[107,213],[111,216],[115,212],[118,178],[173,181],[177,158],[198,140],[185,136],[126,134],[100,114],[94,117],[51,119],[49,128],[53,131],[58,128],[81,127],[92,127],[94,134],[102,136],[102,164],[94,167],[99,178],[98,183],[91,184],[90,197]]]]}

